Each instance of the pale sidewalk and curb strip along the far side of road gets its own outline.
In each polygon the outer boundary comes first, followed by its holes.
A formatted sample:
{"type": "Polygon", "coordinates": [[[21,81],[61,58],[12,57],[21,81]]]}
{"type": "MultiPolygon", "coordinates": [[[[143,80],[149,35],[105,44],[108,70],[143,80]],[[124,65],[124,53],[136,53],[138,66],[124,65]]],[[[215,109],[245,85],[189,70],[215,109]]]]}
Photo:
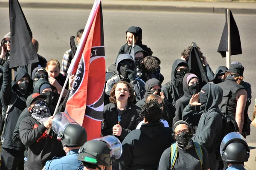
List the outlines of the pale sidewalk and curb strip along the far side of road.
{"type": "MultiPolygon", "coordinates": [[[[19,0],[23,8],[77,8],[91,9],[94,0],[19,0]]],[[[8,8],[8,0],[0,0],[0,8],[8,8]]],[[[191,1],[102,0],[103,10],[181,11],[256,14],[256,3],[207,3],[191,1]]]]}

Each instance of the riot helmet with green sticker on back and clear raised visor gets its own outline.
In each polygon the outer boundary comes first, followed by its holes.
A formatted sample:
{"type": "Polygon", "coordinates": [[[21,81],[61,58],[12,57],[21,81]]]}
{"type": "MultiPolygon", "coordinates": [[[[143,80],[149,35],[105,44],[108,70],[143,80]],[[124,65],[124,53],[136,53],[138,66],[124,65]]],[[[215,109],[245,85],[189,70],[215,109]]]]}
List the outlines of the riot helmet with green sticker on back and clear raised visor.
{"type": "Polygon", "coordinates": [[[78,160],[85,167],[96,169],[98,165],[109,167],[122,154],[122,144],[115,136],[104,136],[86,142],[79,149],[78,160]]]}

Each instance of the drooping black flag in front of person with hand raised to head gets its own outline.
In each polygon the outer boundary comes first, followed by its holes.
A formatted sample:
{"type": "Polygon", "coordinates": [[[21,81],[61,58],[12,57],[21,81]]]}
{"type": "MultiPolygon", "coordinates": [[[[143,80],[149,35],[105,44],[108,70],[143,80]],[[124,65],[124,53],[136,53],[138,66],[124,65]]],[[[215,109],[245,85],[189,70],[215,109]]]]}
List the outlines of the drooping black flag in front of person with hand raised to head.
{"type": "MultiPolygon", "coordinates": [[[[195,42],[194,42],[195,43],[195,42]]],[[[198,51],[197,47],[191,46],[191,51],[189,55],[189,73],[195,74],[199,79],[200,89],[209,82],[207,77],[207,71],[204,65],[201,62],[200,52],[198,51]]]]}

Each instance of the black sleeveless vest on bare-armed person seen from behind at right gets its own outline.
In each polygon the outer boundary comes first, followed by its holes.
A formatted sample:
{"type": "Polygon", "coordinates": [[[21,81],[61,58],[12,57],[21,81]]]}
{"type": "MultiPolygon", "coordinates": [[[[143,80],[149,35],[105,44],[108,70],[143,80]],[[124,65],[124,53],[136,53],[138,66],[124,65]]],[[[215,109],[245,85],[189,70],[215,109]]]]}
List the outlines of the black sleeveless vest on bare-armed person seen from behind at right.
{"type": "Polygon", "coordinates": [[[236,83],[234,77],[227,77],[224,82],[218,84],[223,90],[222,102],[219,108],[224,116],[232,116],[236,119],[236,92],[244,89],[243,86],[236,83]]]}

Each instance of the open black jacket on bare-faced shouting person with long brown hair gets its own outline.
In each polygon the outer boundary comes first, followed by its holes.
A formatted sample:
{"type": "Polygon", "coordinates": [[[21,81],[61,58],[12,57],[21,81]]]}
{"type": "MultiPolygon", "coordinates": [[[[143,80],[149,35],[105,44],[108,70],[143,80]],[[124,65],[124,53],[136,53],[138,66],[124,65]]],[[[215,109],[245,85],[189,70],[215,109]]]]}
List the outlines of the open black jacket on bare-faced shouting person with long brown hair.
{"type": "MultiPolygon", "coordinates": [[[[142,121],[139,118],[140,108],[132,103],[128,103],[127,111],[123,114],[120,125],[122,126],[121,136],[116,136],[121,142],[125,139],[131,130],[136,129],[137,125],[142,121]]],[[[113,134],[113,126],[117,124],[117,106],[114,103],[109,103],[104,106],[103,118],[105,127],[102,130],[103,136],[113,134]]]]}

